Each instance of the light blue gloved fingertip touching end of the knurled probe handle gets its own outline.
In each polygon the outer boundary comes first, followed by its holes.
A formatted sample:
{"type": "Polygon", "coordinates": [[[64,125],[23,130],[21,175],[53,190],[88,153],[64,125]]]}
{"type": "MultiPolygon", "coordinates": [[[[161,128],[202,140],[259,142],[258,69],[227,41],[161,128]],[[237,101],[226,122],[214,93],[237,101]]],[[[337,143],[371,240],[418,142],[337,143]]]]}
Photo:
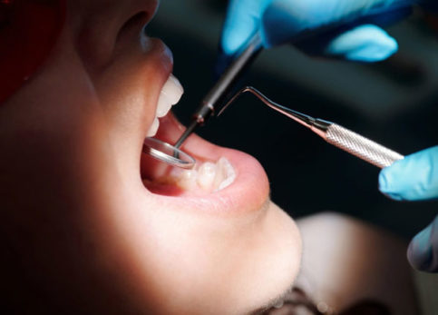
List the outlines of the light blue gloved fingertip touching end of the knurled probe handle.
{"type": "Polygon", "coordinates": [[[379,174],[379,189],[398,201],[438,198],[438,146],[384,168],[379,174]]]}

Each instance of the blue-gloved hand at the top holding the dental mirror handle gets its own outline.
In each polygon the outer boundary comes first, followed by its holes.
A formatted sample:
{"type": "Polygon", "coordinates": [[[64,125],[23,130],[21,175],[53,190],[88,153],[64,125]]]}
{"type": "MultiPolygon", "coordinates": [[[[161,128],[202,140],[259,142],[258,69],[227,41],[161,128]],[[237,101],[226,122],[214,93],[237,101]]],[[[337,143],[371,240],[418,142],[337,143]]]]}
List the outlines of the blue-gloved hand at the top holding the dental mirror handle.
{"type": "Polygon", "coordinates": [[[230,0],[221,46],[234,54],[259,29],[265,46],[294,42],[303,31],[343,25],[294,43],[307,54],[375,62],[397,51],[397,42],[377,25],[388,25],[420,0],[230,0]]]}

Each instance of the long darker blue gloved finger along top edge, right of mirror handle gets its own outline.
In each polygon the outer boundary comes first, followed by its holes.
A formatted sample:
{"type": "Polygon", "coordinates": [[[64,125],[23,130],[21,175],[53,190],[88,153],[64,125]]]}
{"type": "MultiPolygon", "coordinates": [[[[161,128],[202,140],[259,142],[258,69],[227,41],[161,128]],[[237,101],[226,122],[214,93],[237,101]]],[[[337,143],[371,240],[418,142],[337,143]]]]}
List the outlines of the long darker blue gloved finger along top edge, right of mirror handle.
{"type": "Polygon", "coordinates": [[[341,34],[357,25],[390,25],[410,14],[411,3],[410,0],[273,0],[262,17],[264,44],[268,47],[296,44],[307,36],[317,42],[319,34],[341,34]]]}

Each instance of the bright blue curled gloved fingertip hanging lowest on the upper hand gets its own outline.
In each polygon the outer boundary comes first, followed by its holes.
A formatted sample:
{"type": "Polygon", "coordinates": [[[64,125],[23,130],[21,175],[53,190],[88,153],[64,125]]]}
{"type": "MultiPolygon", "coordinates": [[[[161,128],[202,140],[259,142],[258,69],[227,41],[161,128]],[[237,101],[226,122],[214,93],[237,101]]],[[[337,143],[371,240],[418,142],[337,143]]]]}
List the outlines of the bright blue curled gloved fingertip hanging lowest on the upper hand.
{"type": "Polygon", "coordinates": [[[393,37],[375,25],[360,25],[344,34],[338,35],[323,53],[351,61],[382,61],[398,50],[393,37]]]}

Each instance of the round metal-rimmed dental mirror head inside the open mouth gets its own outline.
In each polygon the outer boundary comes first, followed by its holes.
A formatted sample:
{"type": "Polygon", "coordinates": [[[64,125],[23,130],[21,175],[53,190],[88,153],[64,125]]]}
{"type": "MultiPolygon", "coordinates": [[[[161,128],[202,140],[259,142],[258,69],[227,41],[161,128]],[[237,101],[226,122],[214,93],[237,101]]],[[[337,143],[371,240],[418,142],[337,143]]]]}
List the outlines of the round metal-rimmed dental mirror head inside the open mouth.
{"type": "Polygon", "coordinates": [[[146,138],[142,151],[156,160],[182,169],[192,169],[196,162],[194,158],[179,148],[155,138],[146,138]]]}

